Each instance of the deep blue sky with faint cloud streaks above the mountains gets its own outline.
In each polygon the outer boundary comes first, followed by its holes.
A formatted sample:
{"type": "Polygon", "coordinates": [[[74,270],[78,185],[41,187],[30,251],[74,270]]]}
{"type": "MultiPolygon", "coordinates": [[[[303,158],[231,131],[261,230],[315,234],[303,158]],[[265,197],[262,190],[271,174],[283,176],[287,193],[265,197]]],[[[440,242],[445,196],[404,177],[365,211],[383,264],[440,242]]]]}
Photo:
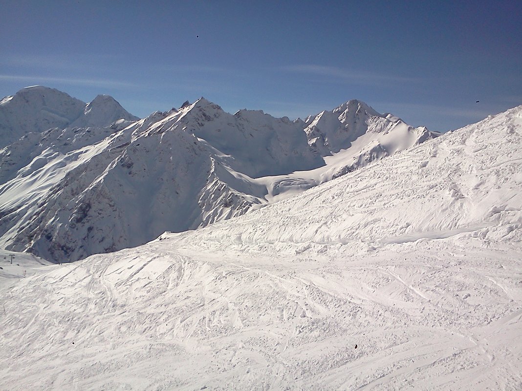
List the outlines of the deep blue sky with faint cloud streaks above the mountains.
{"type": "Polygon", "coordinates": [[[446,131],[522,104],[517,3],[0,0],[0,96],[109,94],[139,117],[204,96],[291,119],[359,99],[446,131]]]}

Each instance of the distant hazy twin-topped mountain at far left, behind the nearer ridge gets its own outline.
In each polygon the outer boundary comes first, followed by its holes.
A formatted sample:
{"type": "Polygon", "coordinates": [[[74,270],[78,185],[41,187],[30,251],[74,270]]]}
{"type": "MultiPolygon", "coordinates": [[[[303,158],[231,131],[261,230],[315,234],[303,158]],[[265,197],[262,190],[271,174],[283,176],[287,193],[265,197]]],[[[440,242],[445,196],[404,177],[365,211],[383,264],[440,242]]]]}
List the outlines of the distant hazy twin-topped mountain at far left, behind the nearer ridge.
{"type": "Polygon", "coordinates": [[[65,92],[34,85],[0,101],[0,148],[29,132],[68,126],[104,127],[118,119],[138,118],[108,95],[98,95],[86,104],[65,92]]]}

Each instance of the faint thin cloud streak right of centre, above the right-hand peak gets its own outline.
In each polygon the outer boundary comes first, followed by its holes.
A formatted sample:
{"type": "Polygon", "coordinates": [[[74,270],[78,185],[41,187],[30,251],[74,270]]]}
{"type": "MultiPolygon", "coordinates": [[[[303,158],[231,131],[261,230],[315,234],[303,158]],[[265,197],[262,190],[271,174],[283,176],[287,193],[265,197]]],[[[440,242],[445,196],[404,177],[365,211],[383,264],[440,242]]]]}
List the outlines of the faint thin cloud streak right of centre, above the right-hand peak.
{"type": "Polygon", "coordinates": [[[288,65],[283,66],[280,69],[287,72],[322,76],[324,78],[335,79],[335,81],[347,83],[380,84],[382,82],[415,82],[420,80],[416,78],[375,74],[373,72],[316,64],[288,65]]]}

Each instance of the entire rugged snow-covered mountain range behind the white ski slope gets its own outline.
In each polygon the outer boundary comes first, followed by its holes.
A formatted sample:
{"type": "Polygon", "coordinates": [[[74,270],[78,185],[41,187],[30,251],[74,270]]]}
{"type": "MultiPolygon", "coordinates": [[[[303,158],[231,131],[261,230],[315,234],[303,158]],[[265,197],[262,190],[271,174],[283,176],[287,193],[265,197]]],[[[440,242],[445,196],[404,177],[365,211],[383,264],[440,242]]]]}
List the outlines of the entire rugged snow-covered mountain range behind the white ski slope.
{"type": "Polygon", "coordinates": [[[438,135],[359,101],[306,121],[204,98],[134,121],[109,96],[44,87],[2,102],[11,133],[33,131],[0,150],[0,247],[54,261],[238,216],[438,135]]]}

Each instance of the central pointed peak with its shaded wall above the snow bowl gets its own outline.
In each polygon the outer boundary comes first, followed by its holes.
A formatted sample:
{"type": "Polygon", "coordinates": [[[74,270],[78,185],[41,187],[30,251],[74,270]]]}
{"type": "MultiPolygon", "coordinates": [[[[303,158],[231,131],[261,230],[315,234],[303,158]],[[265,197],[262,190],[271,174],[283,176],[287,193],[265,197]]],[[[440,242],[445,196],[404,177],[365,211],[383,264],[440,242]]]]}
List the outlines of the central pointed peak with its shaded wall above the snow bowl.
{"type": "Polygon", "coordinates": [[[233,156],[227,164],[252,178],[324,164],[307,147],[299,122],[246,109],[232,115],[204,97],[179,112],[169,113],[146,131],[152,134],[180,130],[205,140],[222,154],[233,156]]]}

